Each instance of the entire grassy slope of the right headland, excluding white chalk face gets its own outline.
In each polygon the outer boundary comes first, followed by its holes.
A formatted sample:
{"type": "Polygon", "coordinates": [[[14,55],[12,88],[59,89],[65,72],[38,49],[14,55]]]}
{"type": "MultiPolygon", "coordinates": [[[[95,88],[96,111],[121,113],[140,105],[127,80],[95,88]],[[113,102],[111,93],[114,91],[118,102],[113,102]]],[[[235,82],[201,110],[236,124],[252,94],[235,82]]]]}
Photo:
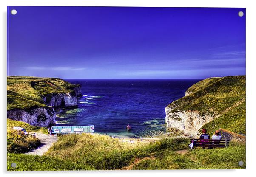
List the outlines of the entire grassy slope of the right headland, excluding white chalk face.
{"type": "MultiPolygon", "coordinates": [[[[199,111],[200,115],[221,115],[214,120],[216,129],[245,133],[245,76],[208,78],[194,84],[187,92],[188,96],[168,105],[175,107],[170,113],[192,110],[199,111]]],[[[212,129],[212,122],[204,128],[212,129]]]]}

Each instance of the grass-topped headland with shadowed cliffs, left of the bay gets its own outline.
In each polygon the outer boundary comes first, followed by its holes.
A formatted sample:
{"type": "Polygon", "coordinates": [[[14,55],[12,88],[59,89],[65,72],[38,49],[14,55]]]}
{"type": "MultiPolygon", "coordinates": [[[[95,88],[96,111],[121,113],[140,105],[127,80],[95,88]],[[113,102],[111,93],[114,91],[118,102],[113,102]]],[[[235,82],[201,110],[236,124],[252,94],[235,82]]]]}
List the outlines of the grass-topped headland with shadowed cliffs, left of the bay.
{"type": "Polygon", "coordinates": [[[7,118],[46,127],[57,107],[77,106],[78,96],[81,86],[63,79],[7,76],[7,118]]]}

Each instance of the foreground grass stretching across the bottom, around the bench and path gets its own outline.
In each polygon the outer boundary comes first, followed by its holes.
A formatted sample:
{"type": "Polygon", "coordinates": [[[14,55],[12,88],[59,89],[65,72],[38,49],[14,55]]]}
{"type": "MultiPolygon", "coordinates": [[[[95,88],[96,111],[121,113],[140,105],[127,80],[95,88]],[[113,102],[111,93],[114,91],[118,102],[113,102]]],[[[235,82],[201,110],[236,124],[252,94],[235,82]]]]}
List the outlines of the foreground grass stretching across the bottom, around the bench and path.
{"type": "Polygon", "coordinates": [[[188,149],[188,138],[162,138],[152,143],[123,143],[106,135],[63,135],[43,156],[9,153],[8,170],[113,169],[244,169],[245,144],[221,149],[188,149]],[[11,168],[11,163],[17,168],[11,168]]]}

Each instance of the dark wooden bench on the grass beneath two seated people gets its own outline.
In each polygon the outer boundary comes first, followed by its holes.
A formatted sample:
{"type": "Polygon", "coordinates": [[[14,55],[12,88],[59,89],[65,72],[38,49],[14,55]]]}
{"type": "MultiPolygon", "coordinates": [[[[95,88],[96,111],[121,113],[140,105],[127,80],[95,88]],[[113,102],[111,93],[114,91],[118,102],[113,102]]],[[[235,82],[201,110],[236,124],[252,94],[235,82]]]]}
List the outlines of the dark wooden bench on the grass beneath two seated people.
{"type": "Polygon", "coordinates": [[[229,145],[229,140],[211,140],[211,139],[190,139],[190,142],[193,143],[193,148],[196,147],[208,147],[212,149],[214,147],[226,148],[229,145]]]}

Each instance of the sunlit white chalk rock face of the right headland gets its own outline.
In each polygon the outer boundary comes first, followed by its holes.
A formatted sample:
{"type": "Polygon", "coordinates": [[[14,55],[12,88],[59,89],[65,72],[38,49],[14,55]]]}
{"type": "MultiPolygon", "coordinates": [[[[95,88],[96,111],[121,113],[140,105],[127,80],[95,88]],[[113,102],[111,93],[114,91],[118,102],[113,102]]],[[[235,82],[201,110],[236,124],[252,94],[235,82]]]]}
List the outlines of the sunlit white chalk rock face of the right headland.
{"type": "Polygon", "coordinates": [[[206,123],[213,120],[213,115],[199,115],[198,111],[171,112],[174,107],[165,108],[165,121],[168,128],[176,128],[184,131],[185,134],[196,138],[198,130],[206,123]]]}

